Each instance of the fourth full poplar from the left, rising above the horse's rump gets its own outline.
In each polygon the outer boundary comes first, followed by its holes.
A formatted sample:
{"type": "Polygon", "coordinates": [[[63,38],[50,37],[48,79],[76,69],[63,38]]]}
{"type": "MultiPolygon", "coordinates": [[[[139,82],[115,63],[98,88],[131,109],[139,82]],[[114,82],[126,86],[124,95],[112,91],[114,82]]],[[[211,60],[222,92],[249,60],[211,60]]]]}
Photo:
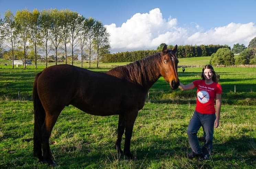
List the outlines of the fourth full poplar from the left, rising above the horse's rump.
{"type": "Polygon", "coordinates": [[[51,34],[51,11],[49,10],[42,10],[40,14],[40,32],[42,37],[42,48],[45,51],[45,59],[46,59],[46,68],[48,64],[48,54],[52,50],[52,41],[50,39],[51,34]]]}

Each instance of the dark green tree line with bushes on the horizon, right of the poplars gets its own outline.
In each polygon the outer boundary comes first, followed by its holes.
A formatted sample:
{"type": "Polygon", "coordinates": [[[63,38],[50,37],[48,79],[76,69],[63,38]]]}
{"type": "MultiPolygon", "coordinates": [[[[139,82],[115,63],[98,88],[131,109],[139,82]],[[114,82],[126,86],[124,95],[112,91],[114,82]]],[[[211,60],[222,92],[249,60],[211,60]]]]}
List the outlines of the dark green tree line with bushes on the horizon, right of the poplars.
{"type": "MultiPolygon", "coordinates": [[[[156,52],[161,52],[165,43],[160,44],[156,50],[138,50],[126,51],[113,54],[106,54],[101,58],[104,63],[113,62],[133,62],[144,58],[145,56],[152,55],[156,52]]],[[[168,49],[172,49],[172,45],[168,45],[168,49]]],[[[191,58],[211,56],[210,64],[214,65],[233,65],[233,64],[256,64],[256,37],[253,38],[248,48],[244,44],[234,44],[231,49],[228,45],[200,45],[200,46],[178,46],[176,56],[178,58],[191,58]],[[234,58],[234,53],[239,54],[234,58]]]]}

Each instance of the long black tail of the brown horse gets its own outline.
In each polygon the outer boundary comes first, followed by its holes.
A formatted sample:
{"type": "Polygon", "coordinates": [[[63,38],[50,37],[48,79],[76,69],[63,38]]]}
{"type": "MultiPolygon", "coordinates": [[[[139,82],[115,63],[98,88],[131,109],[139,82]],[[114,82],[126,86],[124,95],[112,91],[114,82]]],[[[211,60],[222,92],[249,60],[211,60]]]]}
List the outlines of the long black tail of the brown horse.
{"type": "MultiPolygon", "coordinates": [[[[41,72],[42,73],[42,72],[41,72]]],[[[37,79],[41,73],[38,73],[35,77],[33,85],[33,101],[34,101],[34,157],[42,158],[42,126],[45,120],[45,110],[38,97],[37,93],[37,79]]]]}

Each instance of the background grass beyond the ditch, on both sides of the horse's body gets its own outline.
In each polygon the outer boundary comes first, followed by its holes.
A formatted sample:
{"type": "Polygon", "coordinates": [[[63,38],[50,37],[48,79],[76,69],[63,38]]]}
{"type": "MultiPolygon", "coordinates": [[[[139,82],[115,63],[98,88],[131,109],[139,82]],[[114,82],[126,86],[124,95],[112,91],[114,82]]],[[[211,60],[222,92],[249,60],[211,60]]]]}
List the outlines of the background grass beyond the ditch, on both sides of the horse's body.
{"type": "MultiPolygon", "coordinates": [[[[182,73],[178,69],[180,82],[191,83],[200,79],[202,68],[186,68],[182,73]]],[[[0,99],[32,100],[32,85],[35,75],[43,69],[0,69],[0,99]]],[[[90,70],[105,72],[109,69],[91,68],[90,70]]],[[[223,89],[223,104],[256,105],[256,68],[215,68],[220,75],[220,84],[223,89]],[[234,87],[236,86],[236,93],[234,87]]],[[[171,90],[163,77],[149,90],[151,102],[158,103],[195,103],[196,89],[189,91],[171,90]]]]}

